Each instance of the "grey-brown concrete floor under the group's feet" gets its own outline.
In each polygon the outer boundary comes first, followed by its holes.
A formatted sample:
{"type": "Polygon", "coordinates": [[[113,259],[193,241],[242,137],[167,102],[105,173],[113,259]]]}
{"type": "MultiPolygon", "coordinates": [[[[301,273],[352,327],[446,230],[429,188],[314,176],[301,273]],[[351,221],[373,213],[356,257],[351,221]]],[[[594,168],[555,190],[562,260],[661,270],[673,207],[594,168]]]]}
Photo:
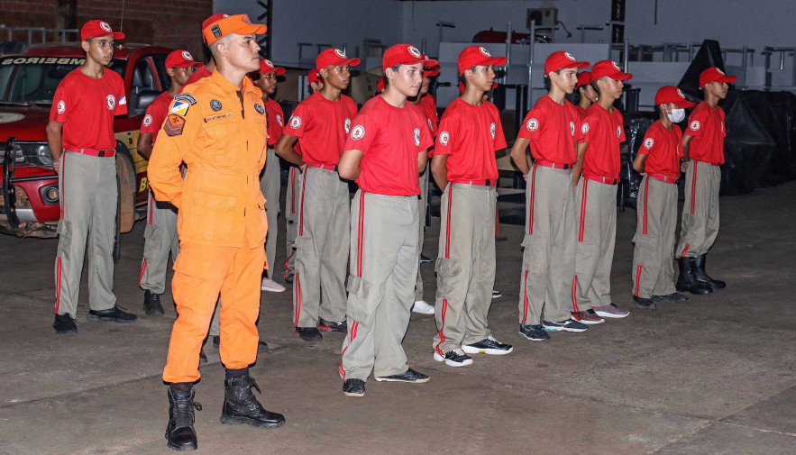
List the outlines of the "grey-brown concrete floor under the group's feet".
{"type": "MultiPolygon", "coordinates": [[[[341,392],[343,336],[305,344],[291,330],[290,293],[263,293],[260,332],[271,350],[252,376],[262,403],[285,414],[287,424],[261,430],[219,423],[224,371],[208,345],[210,363],[197,385],[204,405],[199,451],[796,453],[796,317],[787,291],[796,279],[794,192],[791,183],[722,198],[709,271],[726,279],[727,289],[654,311],[631,305],[636,212],[619,214],[613,296],[630,316],[546,342],[517,336],[522,227],[504,224],[495,285],[504,296],[489,316],[496,337],[515,351],[445,367],[432,360],[433,316],[413,314],[404,347],[431,381],[371,380],[364,398],[341,392]]],[[[435,220],[426,232],[430,257],[437,229],[435,220]]],[[[0,236],[0,454],[169,452],[160,373],[175,313],[167,291],[165,317],[142,315],[142,232],[137,223],[124,234],[115,270],[119,305],[138,313],[138,322],[88,323],[84,292],[72,337],[50,329],[57,241],[0,236]]],[[[422,270],[432,300],[433,267],[422,270]]]]}

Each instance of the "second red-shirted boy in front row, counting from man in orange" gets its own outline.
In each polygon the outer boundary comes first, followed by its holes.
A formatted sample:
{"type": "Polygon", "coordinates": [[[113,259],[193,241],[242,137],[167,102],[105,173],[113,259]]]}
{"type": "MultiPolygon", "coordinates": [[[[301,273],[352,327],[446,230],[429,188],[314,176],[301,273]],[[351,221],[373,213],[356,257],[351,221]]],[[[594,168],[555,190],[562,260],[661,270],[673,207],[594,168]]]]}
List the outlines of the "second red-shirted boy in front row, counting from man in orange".
{"type": "Polygon", "coordinates": [[[504,355],[513,349],[492,337],[487,322],[495,284],[495,220],[498,165],[506,148],[495,105],[484,101],[495,78],[492,57],[480,46],[459,54],[464,93],[445,108],[431,171],[444,188],[439,256],[436,259],[434,359],[451,367],[470,365],[467,354],[504,355]]]}

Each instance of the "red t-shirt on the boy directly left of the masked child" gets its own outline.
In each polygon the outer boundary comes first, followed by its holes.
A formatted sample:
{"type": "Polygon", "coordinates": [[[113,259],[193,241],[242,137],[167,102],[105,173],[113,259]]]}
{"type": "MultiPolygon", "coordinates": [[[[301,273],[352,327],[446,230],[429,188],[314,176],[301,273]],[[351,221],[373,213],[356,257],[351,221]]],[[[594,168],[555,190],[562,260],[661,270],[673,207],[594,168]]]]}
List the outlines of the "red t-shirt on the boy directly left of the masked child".
{"type": "Polygon", "coordinates": [[[619,177],[619,144],[625,141],[622,114],[610,113],[598,104],[590,105],[581,123],[579,142],[589,142],[583,159],[584,176],[619,177]]]}

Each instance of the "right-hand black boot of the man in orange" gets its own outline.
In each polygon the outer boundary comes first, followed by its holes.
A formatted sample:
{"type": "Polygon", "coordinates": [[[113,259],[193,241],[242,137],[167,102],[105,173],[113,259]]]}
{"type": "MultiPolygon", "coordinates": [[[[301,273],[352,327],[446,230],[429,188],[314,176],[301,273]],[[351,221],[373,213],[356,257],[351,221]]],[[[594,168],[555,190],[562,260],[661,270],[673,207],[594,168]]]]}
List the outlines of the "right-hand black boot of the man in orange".
{"type": "Polygon", "coordinates": [[[262,408],[252,394],[252,387],[262,393],[253,378],[227,378],[224,380],[224,407],[221,410],[221,423],[236,425],[248,423],[252,426],[276,428],[285,423],[285,416],[271,413],[262,408]]]}

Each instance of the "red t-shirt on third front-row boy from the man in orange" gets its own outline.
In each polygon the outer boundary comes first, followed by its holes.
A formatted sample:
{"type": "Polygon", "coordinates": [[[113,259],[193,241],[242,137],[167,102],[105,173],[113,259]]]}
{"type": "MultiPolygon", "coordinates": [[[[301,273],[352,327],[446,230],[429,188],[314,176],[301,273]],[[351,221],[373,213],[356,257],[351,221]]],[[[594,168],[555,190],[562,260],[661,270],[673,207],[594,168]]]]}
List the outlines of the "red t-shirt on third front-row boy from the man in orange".
{"type": "Polygon", "coordinates": [[[572,164],[578,160],[575,151],[576,124],[580,124],[580,118],[575,105],[568,101],[559,105],[545,95],[528,112],[517,137],[531,140],[534,159],[572,164]]]}

